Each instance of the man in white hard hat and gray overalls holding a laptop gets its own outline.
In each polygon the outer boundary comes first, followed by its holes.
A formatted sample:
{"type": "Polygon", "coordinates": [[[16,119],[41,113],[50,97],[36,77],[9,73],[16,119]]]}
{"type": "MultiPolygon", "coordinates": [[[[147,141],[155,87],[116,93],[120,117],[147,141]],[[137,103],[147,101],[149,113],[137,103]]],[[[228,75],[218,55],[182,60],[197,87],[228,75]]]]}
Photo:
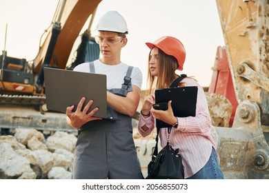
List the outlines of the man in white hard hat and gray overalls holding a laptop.
{"type": "Polygon", "coordinates": [[[77,65],[74,70],[95,72],[107,76],[108,116],[119,121],[94,117],[83,111],[82,98],[77,110],[68,107],[68,123],[79,130],[74,152],[73,179],[143,179],[141,166],[132,139],[132,116],[140,100],[142,73],[139,68],[121,62],[121,48],[127,43],[128,28],[125,19],[116,11],[108,11],[97,24],[95,41],[101,50],[101,59],[77,65]]]}

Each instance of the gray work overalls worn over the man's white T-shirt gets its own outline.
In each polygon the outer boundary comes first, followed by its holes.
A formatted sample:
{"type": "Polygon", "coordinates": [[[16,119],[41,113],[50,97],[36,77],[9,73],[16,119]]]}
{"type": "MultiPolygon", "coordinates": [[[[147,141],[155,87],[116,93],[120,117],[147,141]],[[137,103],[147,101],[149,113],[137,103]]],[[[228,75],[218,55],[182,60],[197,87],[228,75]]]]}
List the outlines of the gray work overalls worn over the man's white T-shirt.
{"type": "MultiPolygon", "coordinates": [[[[89,65],[90,72],[95,72],[93,63],[89,65]]],[[[122,88],[108,91],[126,96],[132,91],[131,72],[129,67],[122,88]]],[[[143,179],[132,138],[132,117],[107,108],[108,116],[119,121],[89,121],[79,129],[72,179],[143,179]]]]}

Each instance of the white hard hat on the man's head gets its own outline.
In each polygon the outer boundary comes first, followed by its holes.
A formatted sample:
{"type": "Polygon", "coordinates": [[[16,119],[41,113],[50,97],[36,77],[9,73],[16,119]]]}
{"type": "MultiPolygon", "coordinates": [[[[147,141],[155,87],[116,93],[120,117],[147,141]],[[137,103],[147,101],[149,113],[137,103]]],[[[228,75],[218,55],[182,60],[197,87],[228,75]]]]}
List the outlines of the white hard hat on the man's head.
{"type": "Polygon", "coordinates": [[[127,23],[119,12],[111,10],[106,12],[98,21],[98,31],[128,33],[127,23]]]}

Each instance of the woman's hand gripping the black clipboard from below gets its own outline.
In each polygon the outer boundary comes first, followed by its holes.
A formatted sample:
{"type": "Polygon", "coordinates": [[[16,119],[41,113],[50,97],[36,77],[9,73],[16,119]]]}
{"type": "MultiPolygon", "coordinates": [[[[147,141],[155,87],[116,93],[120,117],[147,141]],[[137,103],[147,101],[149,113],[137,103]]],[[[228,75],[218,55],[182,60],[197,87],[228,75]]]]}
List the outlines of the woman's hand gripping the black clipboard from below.
{"type": "Polygon", "coordinates": [[[159,119],[163,122],[168,123],[169,125],[174,125],[177,123],[177,117],[174,115],[171,103],[172,101],[168,101],[168,110],[155,110],[152,108],[151,112],[155,119],[159,119]]]}

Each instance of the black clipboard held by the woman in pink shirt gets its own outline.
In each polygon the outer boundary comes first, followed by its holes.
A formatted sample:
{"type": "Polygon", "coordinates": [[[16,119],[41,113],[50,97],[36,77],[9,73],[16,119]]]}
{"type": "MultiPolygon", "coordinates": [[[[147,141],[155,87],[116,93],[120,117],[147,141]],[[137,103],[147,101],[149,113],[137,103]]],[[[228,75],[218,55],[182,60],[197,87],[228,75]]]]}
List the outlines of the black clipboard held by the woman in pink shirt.
{"type": "MultiPolygon", "coordinates": [[[[197,86],[158,89],[155,90],[155,103],[172,101],[171,105],[175,116],[195,116],[197,92],[197,86]]],[[[156,119],[156,127],[169,128],[172,125],[156,119]]]]}

